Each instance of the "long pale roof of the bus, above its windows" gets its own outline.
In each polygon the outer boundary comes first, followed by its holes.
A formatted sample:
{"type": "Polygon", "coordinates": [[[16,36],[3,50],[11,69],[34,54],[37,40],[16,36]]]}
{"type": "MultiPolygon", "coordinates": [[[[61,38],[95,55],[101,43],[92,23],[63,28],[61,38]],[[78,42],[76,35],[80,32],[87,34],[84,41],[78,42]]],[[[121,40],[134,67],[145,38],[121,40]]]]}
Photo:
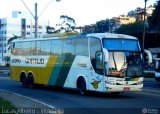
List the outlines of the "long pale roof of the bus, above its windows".
{"type": "Polygon", "coordinates": [[[19,41],[36,41],[36,40],[49,40],[49,39],[69,39],[69,38],[89,38],[89,37],[95,37],[99,39],[103,38],[123,38],[123,39],[135,39],[137,40],[136,37],[129,36],[129,35],[124,35],[124,34],[113,34],[113,33],[82,33],[78,35],[70,35],[70,36],[55,36],[55,37],[49,37],[49,38],[20,38],[20,39],[15,39],[13,42],[19,42],[19,41]]]}

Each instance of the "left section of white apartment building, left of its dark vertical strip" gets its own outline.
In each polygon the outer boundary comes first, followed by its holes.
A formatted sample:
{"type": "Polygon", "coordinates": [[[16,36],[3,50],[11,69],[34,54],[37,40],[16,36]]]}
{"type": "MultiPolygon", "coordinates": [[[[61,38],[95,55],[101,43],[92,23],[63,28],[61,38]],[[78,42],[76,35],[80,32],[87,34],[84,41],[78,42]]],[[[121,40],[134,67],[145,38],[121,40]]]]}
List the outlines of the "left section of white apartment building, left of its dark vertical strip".
{"type": "Polygon", "coordinates": [[[16,36],[21,36],[21,20],[11,18],[0,19],[0,64],[4,57],[10,53],[8,40],[16,36]]]}

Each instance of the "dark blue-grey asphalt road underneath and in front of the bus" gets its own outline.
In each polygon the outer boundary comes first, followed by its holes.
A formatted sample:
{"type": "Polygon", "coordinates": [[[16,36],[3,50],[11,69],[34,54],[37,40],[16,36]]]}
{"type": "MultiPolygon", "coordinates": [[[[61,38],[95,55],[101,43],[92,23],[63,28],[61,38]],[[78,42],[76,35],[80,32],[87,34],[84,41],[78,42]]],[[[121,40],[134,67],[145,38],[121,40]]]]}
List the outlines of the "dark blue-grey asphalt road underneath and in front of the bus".
{"type": "Polygon", "coordinates": [[[94,92],[82,96],[75,90],[48,86],[27,89],[22,88],[21,83],[4,77],[0,78],[0,89],[39,100],[68,114],[143,114],[142,110],[160,113],[160,84],[154,80],[145,80],[142,92],[121,93],[117,97],[94,92]]]}

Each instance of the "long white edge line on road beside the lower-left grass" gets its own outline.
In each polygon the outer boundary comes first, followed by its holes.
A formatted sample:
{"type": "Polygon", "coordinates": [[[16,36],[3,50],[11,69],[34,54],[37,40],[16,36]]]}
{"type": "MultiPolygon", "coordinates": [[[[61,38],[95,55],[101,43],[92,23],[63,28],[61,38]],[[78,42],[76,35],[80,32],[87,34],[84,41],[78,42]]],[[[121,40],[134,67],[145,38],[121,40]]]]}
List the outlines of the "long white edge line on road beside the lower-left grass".
{"type": "Polygon", "coordinates": [[[39,100],[30,98],[30,97],[27,97],[27,96],[24,96],[24,95],[21,95],[21,94],[17,94],[17,93],[14,93],[14,92],[10,92],[10,91],[7,91],[7,90],[3,90],[3,89],[0,89],[0,91],[2,91],[2,92],[7,92],[7,93],[9,93],[9,94],[17,95],[17,96],[20,96],[20,97],[23,97],[23,98],[26,98],[26,99],[29,99],[29,100],[38,102],[38,103],[40,103],[40,104],[43,104],[43,105],[45,105],[45,106],[48,106],[49,108],[55,108],[55,107],[52,106],[52,105],[46,104],[46,103],[44,103],[44,102],[41,102],[41,101],[39,101],[39,100]]]}

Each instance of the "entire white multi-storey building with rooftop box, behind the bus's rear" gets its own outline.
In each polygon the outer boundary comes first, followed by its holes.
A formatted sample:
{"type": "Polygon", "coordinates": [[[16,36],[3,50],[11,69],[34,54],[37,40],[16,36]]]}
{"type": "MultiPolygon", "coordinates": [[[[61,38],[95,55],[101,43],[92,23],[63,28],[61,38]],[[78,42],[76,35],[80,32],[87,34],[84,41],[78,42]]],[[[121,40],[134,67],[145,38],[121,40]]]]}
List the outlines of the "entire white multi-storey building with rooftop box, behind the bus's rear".
{"type": "MultiPolygon", "coordinates": [[[[4,64],[5,56],[10,55],[10,44],[8,43],[10,38],[14,36],[31,38],[35,35],[34,21],[21,14],[19,11],[14,11],[11,18],[0,18],[0,65],[4,64]]],[[[45,28],[45,25],[38,26],[38,37],[46,33],[45,28]]]]}

